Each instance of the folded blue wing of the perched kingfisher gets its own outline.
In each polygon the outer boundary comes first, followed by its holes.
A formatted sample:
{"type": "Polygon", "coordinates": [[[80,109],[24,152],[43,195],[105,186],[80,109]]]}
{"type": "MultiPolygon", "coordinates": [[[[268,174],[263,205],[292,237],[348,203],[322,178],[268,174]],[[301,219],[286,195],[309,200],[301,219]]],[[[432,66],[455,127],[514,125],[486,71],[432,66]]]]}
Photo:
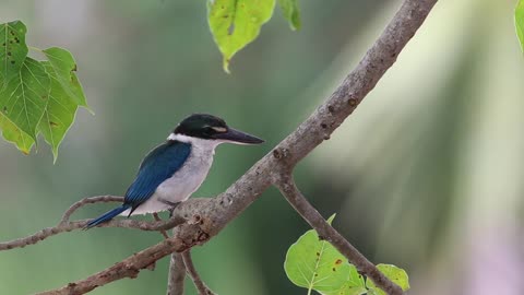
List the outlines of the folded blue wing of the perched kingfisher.
{"type": "Polygon", "coordinates": [[[178,141],[156,146],[140,164],[136,178],[126,192],[124,204],[136,209],[183,165],[190,152],[191,144],[178,141]]]}

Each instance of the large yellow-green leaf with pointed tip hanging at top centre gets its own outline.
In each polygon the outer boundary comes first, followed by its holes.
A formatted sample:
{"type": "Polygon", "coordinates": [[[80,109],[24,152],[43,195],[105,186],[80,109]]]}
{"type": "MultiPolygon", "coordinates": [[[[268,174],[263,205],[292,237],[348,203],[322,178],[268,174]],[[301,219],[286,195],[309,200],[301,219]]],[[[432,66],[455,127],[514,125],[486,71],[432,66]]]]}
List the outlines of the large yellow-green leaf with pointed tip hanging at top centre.
{"type": "Polygon", "coordinates": [[[257,38],[261,26],[271,19],[275,0],[207,0],[211,33],[229,72],[233,56],[257,38]]]}

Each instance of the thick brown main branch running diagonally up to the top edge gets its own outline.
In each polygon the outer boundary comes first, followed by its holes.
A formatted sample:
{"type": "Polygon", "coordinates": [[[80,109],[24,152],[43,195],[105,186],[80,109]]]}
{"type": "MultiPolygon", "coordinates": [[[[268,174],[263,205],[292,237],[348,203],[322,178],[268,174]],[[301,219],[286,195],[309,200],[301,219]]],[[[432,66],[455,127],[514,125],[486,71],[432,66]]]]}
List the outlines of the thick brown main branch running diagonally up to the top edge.
{"type": "MultiPolygon", "coordinates": [[[[112,281],[135,276],[141,269],[151,266],[162,257],[175,251],[182,252],[218,234],[255,201],[267,187],[272,184],[279,184],[283,173],[291,172],[300,160],[331,137],[331,133],[355,110],[395,62],[401,50],[421,26],[436,2],[437,0],[405,0],[355,70],[344,79],[327,101],[294,132],[217,198],[200,203],[187,201],[177,208],[176,216],[193,221],[177,226],[177,235],[85,280],[70,283],[55,293],[45,294],[83,294],[112,281]]],[[[168,222],[170,221],[172,219],[168,222]]],[[[319,220],[312,224],[319,228],[322,228],[323,225],[319,220]]],[[[336,232],[330,232],[330,228],[322,228],[322,231],[333,234],[333,236],[324,238],[335,247],[342,250],[347,248],[347,240],[337,236],[336,232]]],[[[357,259],[357,263],[361,264],[358,257],[353,257],[349,252],[346,255],[350,262],[355,263],[353,260],[357,259]]],[[[391,291],[391,282],[388,280],[381,280],[378,274],[367,273],[367,275],[371,280],[376,278],[377,281],[373,280],[373,282],[382,290],[391,291]]]]}

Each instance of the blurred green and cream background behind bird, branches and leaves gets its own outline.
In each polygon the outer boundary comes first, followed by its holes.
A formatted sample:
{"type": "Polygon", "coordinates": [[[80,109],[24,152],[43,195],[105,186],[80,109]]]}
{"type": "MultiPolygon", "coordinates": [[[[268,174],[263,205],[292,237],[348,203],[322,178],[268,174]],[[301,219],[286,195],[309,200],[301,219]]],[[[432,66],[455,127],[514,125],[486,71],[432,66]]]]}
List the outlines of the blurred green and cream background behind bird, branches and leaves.
{"type": "MultiPolygon", "coordinates": [[[[330,141],[296,172],[305,194],[373,262],[410,275],[410,294],[524,294],[524,61],[516,1],[441,1],[398,61],[330,141]]],[[[55,225],[81,198],[122,194],[144,154],[191,113],[266,140],[221,146],[198,197],[224,191],[293,131],[354,68],[401,1],[300,1],[302,30],[279,10],[222,70],[205,2],[0,2],[28,44],[71,50],[92,116],[81,109],[52,165],[0,141],[0,240],[55,225]]],[[[93,217],[111,204],[82,209],[93,217]]],[[[275,189],[193,249],[218,294],[306,294],[286,250],[309,229],[275,189]]],[[[0,294],[31,294],[112,266],[162,239],[98,228],[0,252],[0,294]]],[[[167,262],[93,294],[164,294],[167,262]]],[[[187,282],[187,294],[195,294],[187,282]]]]}

